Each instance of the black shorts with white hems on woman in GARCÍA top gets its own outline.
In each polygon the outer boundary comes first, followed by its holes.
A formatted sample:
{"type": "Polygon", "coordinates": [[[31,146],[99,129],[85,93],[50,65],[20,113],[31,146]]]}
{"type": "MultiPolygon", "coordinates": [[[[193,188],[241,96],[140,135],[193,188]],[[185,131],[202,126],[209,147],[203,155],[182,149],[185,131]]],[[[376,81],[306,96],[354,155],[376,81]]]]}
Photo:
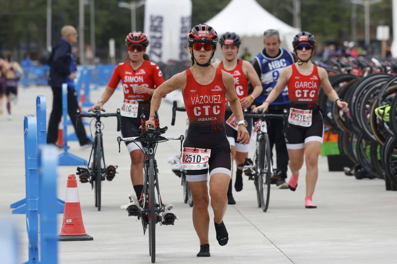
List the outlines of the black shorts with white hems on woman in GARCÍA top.
{"type": "Polygon", "coordinates": [[[313,111],[312,125],[310,127],[301,127],[299,125],[289,124],[285,131],[285,143],[287,149],[301,149],[310,141],[323,142],[324,139],[324,121],[320,111],[313,111]]]}

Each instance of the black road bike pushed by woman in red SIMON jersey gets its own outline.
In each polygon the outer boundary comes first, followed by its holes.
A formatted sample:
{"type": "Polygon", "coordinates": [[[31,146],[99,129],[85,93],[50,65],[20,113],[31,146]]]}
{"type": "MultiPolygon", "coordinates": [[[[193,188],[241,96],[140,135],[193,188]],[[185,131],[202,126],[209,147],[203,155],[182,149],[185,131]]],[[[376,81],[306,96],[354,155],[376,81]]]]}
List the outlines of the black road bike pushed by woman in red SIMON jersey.
{"type": "MultiPolygon", "coordinates": [[[[105,112],[103,108],[102,111],[105,112]]],[[[79,175],[81,182],[91,183],[91,189],[94,189],[95,207],[98,208],[98,211],[100,211],[101,209],[102,180],[105,180],[105,178],[108,180],[112,180],[116,174],[116,169],[117,169],[117,166],[112,166],[112,165],[106,167],[106,163],[105,163],[105,153],[104,153],[103,141],[102,141],[103,124],[100,121],[100,118],[109,117],[109,116],[117,117],[117,131],[120,131],[121,129],[120,109],[117,109],[116,113],[108,113],[108,114],[101,113],[99,108],[95,108],[93,114],[82,114],[80,113],[80,110],[77,109],[77,127],[80,128],[83,127],[83,123],[81,122],[81,117],[88,117],[88,118],[93,118],[93,120],[96,120],[94,144],[91,149],[90,159],[88,161],[89,167],[88,168],[77,167],[77,175],[79,175]],[[92,162],[91,162],[91,157],[93,158],[92,162]]],[[[92,137],[92,133],[91,133],[91,137],[92,137]]]]}

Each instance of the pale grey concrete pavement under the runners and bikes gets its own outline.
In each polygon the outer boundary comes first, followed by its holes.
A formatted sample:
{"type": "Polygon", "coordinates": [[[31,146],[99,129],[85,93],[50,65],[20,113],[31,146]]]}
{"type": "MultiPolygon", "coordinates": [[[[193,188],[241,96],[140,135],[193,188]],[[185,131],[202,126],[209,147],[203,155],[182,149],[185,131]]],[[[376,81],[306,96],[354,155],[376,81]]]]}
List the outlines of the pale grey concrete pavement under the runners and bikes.
{"type": "MultiPolygon", "coordinates": [[[[103,88],[93,91],[96,101],[103,88]]],[[[48,87],[20,90],[17,106],[12,106],[13,121],[0,116],[0,164],[3,171],[0,214],[17,222],[21,241],[20,262],[27,261],[25,215],[11,215],[10,203],[25,197],[23,116],[35,114],[37,95],[47,97],[47,116],[52,109],[52,91],[48,87]]],[[[121,107],[123,93],[116,91],[104,108],[114,112],[121,107]]],[[[160,107],[160,125],[168,125],[166,135],[185,133],[185,112],[177,112],[175,126],[170,125],[171,106],[160,107]]],[[[48,118],[47,118],[48,120],[48,118]]],[[[125,145],[118,153],[116,119],[103,119],[104,149],[107,164],[119,165],[112,182],[102,184],[102,210],[94,207],[89,184],[78,182],[83,220],[93,241],[59,242],[59,263],[150,263],[148,236],[136,217],[128,217],[119,206],[134,193],[129,177],[130,159],[125,145]]],[[[69,127],[69,132],[73,128],[69,127]]],[[[88,131],[88,129],[87,129],[88,131]]],[[[70,152],[89,158],[90,150],[80,150],[78,142],[69,142],[70,152]]],[[[304,208],[305,169],[295,192],[272,186],[270,205],[263,213],[256,205],[252,181],[244,180],[243,191],[234,192],[236,205],[229,205],[224,218],[229,243],[221,247],[210,223],[210,258],[197,258],[199,242],[191,221],[191,207],[182,201],[180,179],[167,163],[179,154],[179,142],[160,143],[156,153],[162,199],[174,205],[179,220],[174,226],[156,226],[156,263],[396,263],[397,193],[385,191],[383,180],[356,180],[341,172],[328,172],[327,160],[320,157],[319,179],[313,196],[317,209],[304,208]]],[[[251,144],[251,152],[254,144],[251,144]]],[[[59,167],[58,197],[65,198],[67,175],[76,166],[59,167]]],[[[210,209],[210,218],[213,213],[210,209]]],[[[58,215],[58,226],[62,224],[58,215]]]]}

